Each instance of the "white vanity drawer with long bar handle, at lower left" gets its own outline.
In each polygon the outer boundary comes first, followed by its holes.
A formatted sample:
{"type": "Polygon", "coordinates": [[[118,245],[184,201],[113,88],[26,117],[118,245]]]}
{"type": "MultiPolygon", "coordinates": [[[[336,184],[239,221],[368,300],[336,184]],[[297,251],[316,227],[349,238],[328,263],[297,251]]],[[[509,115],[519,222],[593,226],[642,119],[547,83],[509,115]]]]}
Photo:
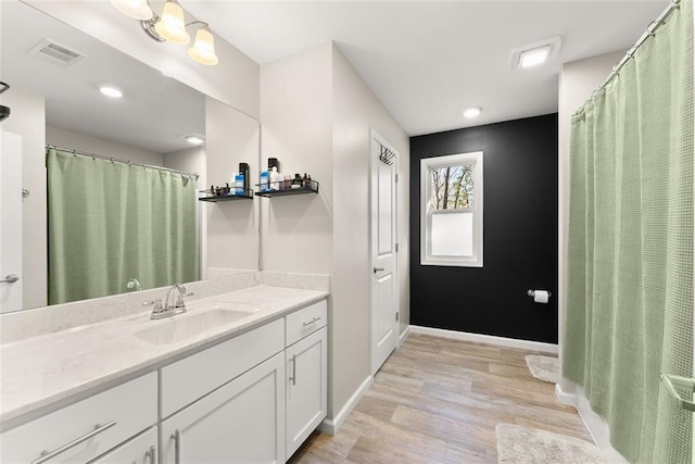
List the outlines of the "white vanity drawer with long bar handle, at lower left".
{"type": "Polygon", "coordinates": [[[47,463],[91,461],[156,423],[156,373],[151,373],[8,430],[0,435],[0,462],[33,463],[42,451],[75,441],[47,463]]]}

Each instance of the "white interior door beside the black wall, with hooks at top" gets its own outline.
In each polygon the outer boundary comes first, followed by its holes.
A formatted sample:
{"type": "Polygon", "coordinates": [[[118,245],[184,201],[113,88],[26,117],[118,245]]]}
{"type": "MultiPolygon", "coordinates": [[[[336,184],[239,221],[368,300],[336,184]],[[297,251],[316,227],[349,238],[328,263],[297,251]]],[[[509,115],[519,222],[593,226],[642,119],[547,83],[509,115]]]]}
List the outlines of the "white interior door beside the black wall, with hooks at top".
{"type": "Polygon", "coordinates": [[[396,173],[399,156],[371,131],[371,373],[399,340],[396,278],[396,173]],[[382,154],[386,150],[389,152],[382,154]],[[389,162],[383,160],[388,158],[389,162]]]}

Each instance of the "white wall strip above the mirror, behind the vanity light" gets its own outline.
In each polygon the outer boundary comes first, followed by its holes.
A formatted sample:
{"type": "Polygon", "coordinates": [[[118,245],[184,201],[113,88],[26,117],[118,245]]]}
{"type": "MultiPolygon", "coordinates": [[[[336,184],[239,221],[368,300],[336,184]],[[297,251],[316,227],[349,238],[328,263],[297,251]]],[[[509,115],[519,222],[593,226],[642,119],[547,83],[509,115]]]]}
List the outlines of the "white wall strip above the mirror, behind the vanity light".
{"type": "MultiPolygon", "coordinates": [[[[187,47],[149,38],[139,21],[119,13],[109,1],[23,1],[195,90],[258,118],[258,64],[219,36],[215,36],[219,64],[205,66],[188,57],[187,47]]],[[[162,2],[153,2],[153,10],[161,12],[162,2]]],[[[192,21],[191,15],[187,18],[192,21]]],[[[216,17],[203,20],[213,30],[216,21],[224,21],[216,17]]]]}

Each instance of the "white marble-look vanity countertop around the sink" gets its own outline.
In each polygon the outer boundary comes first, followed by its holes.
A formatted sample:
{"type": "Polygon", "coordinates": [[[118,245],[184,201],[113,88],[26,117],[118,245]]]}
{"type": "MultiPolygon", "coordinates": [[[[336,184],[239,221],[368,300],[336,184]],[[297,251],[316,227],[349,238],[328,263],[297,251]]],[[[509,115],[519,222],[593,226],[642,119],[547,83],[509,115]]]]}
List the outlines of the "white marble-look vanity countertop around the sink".
{"type": "Polygon", "coordinates": [[[14,421],[128,374],[144,373],[148,367],[180,359],[195,348],[231,338],[327,296],[327,291],[262,285],[190,302],[188,313],[165,319],[152,321],[146,311],[2,344],[0,421],[14,421]],[[178,342],[154,344],[136,336],[179,317],[214,311],[216,305],[211,303],[219,302],[242,303],[254,312],[178,342]]]}

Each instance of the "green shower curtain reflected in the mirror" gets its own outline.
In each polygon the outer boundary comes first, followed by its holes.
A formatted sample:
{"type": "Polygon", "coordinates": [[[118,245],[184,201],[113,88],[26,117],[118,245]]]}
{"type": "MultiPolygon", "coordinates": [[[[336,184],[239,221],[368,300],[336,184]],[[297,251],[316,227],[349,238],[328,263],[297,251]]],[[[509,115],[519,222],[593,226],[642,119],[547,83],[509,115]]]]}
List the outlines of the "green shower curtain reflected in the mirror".
{"type": "Polygon", "coordinates": [[[198,280],[195,180],[48,148],[49,304],[198,280]]]}

